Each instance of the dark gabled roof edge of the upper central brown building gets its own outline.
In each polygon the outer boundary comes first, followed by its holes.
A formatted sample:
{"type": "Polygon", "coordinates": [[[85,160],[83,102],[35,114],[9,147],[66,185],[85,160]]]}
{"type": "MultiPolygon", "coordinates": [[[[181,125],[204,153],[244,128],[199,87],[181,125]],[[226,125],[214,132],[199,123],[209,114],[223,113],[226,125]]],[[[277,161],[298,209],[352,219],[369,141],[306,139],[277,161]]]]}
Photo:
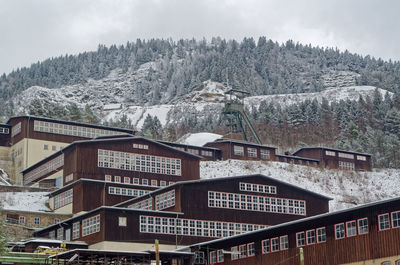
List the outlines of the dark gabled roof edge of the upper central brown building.
{"type": "Polygon", "coordinates": [[[64,147],[63,149],[59,150],[58,152],[56,152],[56,153],[54,153],[54,154],[52,154],[52,155],[46,157],[45,159],[43,159],[43,160],[37,162],[36,164],[33,164],[32,166],[30,166],[30,167],[24,169],[24,170],[21,171],[21,172],[24,174],[25,172],[30,171],[30,170],[36,168],[37,166],[39,166],[39,165],[41,165],[41,164],[47,162],[47,161],[50,161],[51,159],[57,157],[58,155],[64,153],[66,150],[68,150],[68,149],[70,149],[70,148],[72,148],[72,147],[74,147],[74,146],[76,146],[76,145],[80,145],[80,144],[92,144],[92,143],[102,143],[102,142],[116,142],[116,141],[123,141],[123,140],[139,140],[139,139],[140,139],[140,140],[148,141],[148,142],[150,142],[150,143],[153,143],[153,144],[156,144],[156,145],[159,145],[159,146],[163,146],[163,147],[168,148],[168,149],[170,149],[170,150],[183,153],[183,154],[185,154],[185,155],[191,156],[191,157],[193,157],[193,158],[197,158],[197,159],[199,159],[199,160],[203,158],[202,156],[198,156],[198,155],[195,155],[195,154],[186,152],[186,151],[182,151],[182,150],[176,149],[176,148],[174,148],[174,147],[171,147],[171,146],[169,146],[169,145],[166,145],[166,144],[163,144],[163,143],[160,143],[160,142],[157,142],[157,141],[155,141],[155,140],[148,139],[148,138],[144,138],[144,137],[141,137],[141,136],[127,136],[127,137],[118,137],[118,138],[114,138],[114,137],[108,138],[108,137],[107,137],[107,138],[100,138],[100,139],[94,138],[94,139],[90,139],[90,140],[80,140],[80,141],[72,142],[71,144],[67,145],[66,147],[64,147]]]}

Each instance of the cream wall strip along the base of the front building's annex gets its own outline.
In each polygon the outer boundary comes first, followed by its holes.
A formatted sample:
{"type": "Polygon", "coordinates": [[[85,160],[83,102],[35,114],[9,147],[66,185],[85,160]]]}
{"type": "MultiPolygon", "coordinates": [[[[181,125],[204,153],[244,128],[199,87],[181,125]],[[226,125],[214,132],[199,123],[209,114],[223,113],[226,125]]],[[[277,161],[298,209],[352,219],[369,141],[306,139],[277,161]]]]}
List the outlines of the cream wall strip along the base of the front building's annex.
{"type": "MultiPolygon", "coordinates": [[[[175,250],[175,245],[159,245],[160,250],[175,250]]],[[[178,248],[184,246],[178,245],[178,248]]],[[[144,251],[154,250],[154,243],[128,243],[116,241],[102,241],[89,246],[89,249],[115,250],[115,251],[144,251]]]]}

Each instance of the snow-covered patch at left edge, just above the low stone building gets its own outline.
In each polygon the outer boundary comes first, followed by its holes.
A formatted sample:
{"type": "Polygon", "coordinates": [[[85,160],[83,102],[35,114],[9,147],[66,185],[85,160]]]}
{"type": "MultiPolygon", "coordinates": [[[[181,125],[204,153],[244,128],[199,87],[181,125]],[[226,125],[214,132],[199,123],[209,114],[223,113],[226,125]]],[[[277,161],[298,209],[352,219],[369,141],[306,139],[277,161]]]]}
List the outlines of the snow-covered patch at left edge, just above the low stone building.
{"type": "Polygon", "coordinates": [[[0,192],[0,202],[5,210],[50,211],[46,206],[47,194],[47,192],[0,192]]]}

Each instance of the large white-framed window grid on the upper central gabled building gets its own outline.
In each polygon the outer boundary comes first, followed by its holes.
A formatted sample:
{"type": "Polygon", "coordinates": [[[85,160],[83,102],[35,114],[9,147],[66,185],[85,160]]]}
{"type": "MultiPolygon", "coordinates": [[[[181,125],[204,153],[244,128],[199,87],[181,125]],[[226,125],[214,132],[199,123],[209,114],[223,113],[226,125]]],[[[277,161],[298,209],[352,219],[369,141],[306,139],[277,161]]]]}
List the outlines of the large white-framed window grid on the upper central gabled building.
{"type": "Polygon", "coordinates": [[[181,159],[98,149],[98,166],[181,176],[181,159]]]}

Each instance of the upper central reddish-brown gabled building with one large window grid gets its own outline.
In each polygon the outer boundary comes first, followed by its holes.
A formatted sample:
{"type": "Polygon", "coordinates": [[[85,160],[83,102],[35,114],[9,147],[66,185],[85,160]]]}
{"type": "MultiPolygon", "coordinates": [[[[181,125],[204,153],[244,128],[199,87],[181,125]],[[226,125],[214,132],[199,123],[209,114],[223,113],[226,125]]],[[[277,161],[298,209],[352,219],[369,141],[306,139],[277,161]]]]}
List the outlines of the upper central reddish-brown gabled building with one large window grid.
{"type": "Polygon", "coordinates": [[[122,135],[73,142],[22,173],[24,185],[61,178],[61,186],[65,186],[87,178],[166,186],[200,179],[200,159],[153,140],[122,135]]]}

